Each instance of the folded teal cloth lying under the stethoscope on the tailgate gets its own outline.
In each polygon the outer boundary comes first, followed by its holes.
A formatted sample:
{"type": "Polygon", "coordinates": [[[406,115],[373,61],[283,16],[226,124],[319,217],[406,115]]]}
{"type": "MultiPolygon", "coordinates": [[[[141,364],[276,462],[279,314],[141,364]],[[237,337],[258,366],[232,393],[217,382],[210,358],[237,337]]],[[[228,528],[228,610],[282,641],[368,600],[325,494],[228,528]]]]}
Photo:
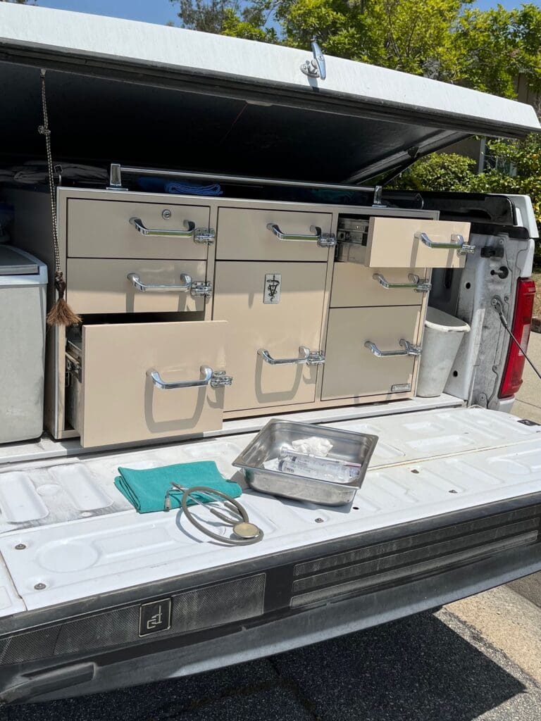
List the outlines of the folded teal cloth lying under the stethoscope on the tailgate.
{"type": "MultiPolygon", "coordinates": [[[[120,476],[115,478],[115,486],[125,496],[138,513],[151,513],[164,510],[165,493],[172,482],[185,488],[193,486],[209,486],[217,491],[237,498],[242,493],[241,487],[234,481],[226,480],[214,461],[198,461],[196,463],[178,463],[161,468],[136,470],[119,468],[120,476]]],[[[171,507],[180,508],[181,491],[170,492],[171,507]]],[[[203,502],[214,500],[198,494],[203,502]]],[[[188,505],[195,501],[188,500],[188,505]]]]}

